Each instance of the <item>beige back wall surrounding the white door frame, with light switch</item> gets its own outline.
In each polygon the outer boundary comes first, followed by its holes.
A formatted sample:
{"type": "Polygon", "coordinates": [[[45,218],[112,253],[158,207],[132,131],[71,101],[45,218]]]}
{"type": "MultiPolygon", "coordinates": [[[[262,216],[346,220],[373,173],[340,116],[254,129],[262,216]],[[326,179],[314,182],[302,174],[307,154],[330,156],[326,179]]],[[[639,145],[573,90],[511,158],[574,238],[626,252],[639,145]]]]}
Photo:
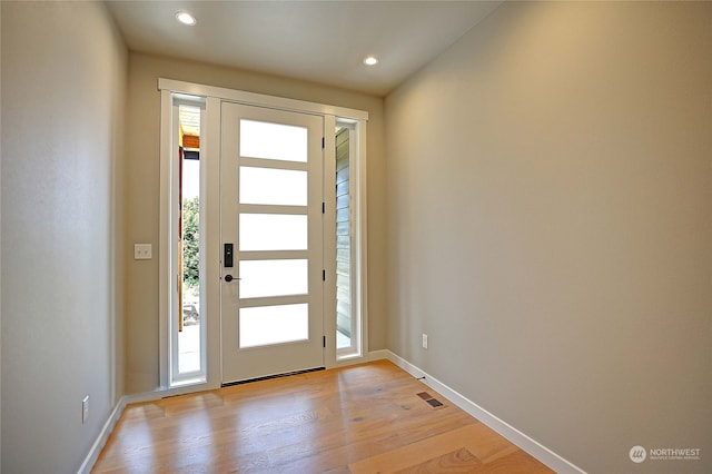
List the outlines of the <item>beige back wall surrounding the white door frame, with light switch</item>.
{"type": "MultiPolygon", "coordinates": [[[[136,243],[151,243],[154,255],[158,255],[160,95],[157,85],[160,77],[368,111],[369,337],[372,350],[384,348],[383,99],[237,69],[132,52],[129,60],[125,168],[128,191],[126,251],[136,243]]],[[[126,282],[127,393],[142,393],[159,385],[158,259],[130,260],[126,282]]]]}

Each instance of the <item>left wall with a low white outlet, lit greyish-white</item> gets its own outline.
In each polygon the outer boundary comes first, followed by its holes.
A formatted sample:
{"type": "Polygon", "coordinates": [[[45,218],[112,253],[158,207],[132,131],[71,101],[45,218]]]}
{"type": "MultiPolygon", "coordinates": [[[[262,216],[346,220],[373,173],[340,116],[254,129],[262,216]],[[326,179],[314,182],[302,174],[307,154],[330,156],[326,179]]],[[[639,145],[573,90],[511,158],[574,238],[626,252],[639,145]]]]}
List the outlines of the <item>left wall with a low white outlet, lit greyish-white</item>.
{"type": "Polygon", "coordinates": [[[127,51],[102,3],[0,8],[2,471],[70,473],[122,391],[113,179],[127,51]]]}

